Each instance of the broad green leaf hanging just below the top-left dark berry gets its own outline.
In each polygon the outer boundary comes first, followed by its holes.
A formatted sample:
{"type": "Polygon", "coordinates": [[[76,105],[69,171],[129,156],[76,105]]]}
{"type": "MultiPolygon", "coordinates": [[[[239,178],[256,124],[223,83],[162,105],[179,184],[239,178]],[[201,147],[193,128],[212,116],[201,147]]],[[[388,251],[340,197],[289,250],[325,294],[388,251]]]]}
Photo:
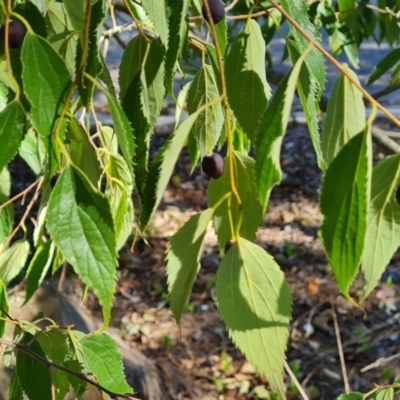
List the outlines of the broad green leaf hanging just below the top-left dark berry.
{"type": "Polygon", "coordinates": [[[55,128],[71,85],[68,68],[51,44],[27,33],[22,45],[22,79],[31,103],[32,123],[46,138],[55,128]]]}

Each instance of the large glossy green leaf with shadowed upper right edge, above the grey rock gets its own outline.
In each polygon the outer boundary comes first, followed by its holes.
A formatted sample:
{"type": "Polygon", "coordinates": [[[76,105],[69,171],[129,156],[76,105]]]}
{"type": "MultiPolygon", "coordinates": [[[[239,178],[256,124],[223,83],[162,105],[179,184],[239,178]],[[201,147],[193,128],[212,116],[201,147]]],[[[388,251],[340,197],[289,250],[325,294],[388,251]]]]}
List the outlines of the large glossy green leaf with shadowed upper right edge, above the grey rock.
{"type": "Polygon", "coordinates": [[[117,264],[113,220],[106,197],[75,167],[65,167],[57,180],[47,227],[63,256],[98,296],[106,326],[117,264]]]}

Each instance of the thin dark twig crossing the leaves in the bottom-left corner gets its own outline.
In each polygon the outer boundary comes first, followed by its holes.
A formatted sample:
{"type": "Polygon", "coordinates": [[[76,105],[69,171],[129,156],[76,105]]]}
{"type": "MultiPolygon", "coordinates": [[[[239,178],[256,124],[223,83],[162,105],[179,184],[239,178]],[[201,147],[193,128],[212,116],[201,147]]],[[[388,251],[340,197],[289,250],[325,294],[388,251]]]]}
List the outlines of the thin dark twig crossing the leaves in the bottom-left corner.
{"type": "Polygon", "coordinates": [[[106,389],[105,387],[99,385],[98,383],[92,381],[89,379],[85,374],[82,374],[80,372],[75,372],[72,371],[71,369],[68,369],[64,367],[63,365],[56,364],[52,361],[47,360],[46,358],[38,355],[34,351],[32,351],[28,346],[24,344],[19,344],[19,343],[14,343],[12,341],[6,340],[6,339],[0,339],[0,343],[5,344],[6,346],[11,346],[12,348],[22,351],[23,353],[27,354],[28,356],[34,358],[35,360],[39,361],[41,364],[43,364],[47,369],[49,368],[54,368],[58,369],[59,371],[65,372],[68,375],[72,375],[77,379],[80,379],[81,381],[84,381],[86,383],[89,383],[90,385],[96,387],[97,389],[101,390],[102,392],[108,394],[111,398],[115,399],[118,397],[121,397],[123,399],[128,399],[128,400],[139,400],[136,397],[129,396],[126,394],[118,394],[115,392],[112,392],[111,390],[106,389]]]}

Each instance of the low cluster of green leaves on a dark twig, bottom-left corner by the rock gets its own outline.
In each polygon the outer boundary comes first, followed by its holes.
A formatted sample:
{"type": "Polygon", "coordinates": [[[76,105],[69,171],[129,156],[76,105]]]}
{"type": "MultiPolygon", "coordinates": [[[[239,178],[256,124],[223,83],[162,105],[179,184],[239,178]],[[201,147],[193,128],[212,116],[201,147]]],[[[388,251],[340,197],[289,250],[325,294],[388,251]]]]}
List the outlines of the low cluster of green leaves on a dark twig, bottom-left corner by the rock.
{"type": "Polygon", "coordinates": [[[8,322],[15,324],[13,341],[3,356],[4,364],[13,368],[9,399],[22,400],[25,395],[29,399],[62,400],[70,389],[80,399],[90,385],[113,397],[132,393],[117,344],[109,335],[60,328],[43,315],[32,322],[8,322]],[[48,326],[40,329],[43,322],[48,326]]]}

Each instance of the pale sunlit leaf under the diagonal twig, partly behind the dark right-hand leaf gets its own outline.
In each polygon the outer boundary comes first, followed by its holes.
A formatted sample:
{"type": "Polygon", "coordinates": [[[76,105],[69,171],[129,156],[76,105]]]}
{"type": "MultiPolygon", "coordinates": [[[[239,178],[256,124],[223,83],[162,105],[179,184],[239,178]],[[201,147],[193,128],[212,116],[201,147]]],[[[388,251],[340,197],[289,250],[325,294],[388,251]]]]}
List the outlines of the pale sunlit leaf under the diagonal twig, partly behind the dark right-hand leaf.
{"type": "MultiPolygon", "coordinates": [[[[357,75],[345,67],[357,82],[357,75]]],[[[326,164],[329,165],[343,146],[365,127],[365,106],[361,92],[341,75],[332,88],[328,101],[321,148],[326,164]]]]}

